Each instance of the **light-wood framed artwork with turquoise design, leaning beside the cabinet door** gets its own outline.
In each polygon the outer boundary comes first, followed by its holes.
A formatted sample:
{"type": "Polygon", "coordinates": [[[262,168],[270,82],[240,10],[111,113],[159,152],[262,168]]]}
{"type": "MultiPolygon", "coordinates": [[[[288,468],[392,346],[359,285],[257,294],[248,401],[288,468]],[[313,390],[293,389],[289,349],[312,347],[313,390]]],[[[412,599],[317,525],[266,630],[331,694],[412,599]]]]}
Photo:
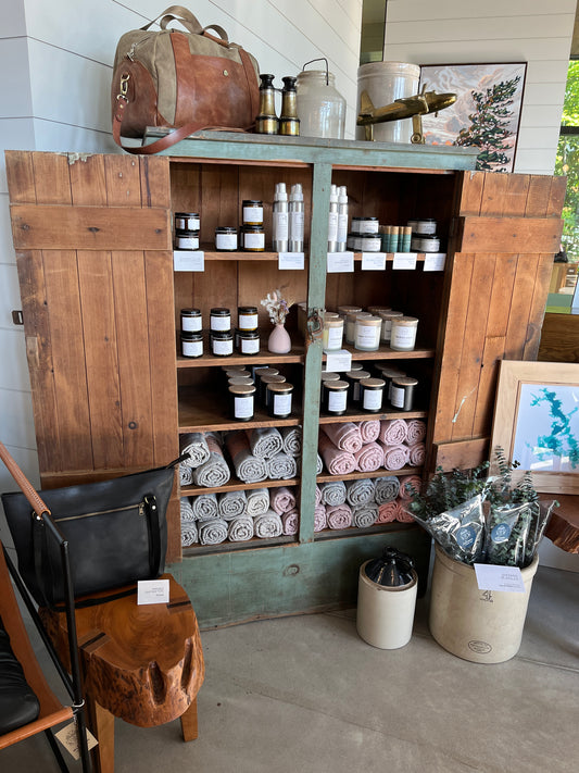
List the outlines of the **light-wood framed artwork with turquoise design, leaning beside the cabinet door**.
{"type": "Polygon", "coordinates": [[[579,363],[501,362],[491,456],[498,446],[520,464],[514,481],[530,471],[538,491],[579,494],[579,363]]]}

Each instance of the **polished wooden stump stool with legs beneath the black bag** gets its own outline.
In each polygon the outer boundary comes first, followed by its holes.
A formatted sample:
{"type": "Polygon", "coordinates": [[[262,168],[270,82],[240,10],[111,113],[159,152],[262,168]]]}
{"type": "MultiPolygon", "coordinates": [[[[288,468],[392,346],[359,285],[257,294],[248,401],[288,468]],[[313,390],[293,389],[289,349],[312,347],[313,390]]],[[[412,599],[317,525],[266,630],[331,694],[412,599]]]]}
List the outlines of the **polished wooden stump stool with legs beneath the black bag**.
{"type": "MultiPolygon", "coordinates": [[[[168,574],[169,602],[137,604],[137,589],[76,610],[89,727],[99,740],[95,765],[114,771],[114,718],[152,727],[180,718],[184,740],[197,738],[197,694],[204,676],[197,618],[181,586],[168,574]]],[[[119,589],[121,590],[121,589],[119,589]]],[[[97,594],[91,599],[111,594],[97,594]]],[[[66,664],[64,612],[40,616],[66,664]]]]}

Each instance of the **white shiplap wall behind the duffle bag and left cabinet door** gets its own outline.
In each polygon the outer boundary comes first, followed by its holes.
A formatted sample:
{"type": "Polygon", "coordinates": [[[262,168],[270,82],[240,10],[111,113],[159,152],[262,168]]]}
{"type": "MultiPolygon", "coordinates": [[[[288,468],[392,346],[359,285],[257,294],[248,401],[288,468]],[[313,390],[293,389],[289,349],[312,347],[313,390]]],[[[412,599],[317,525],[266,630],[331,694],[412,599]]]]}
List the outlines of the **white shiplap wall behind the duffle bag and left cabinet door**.
{"type": "MultiPolygon", "coordinates": [[[[117,152],[110,83],[121,35],[158,16],[160,0],[11,0],[0,29],[0,440],[38,483],[30,386],[10,229],[5,149],[117,152]]],[[[201,24],[219,24],[262,72],[297,74],[326,57],[348,101],[353,137],[362,0],[196,0],[201,24]]],[[[0,491],[12,488],[0,465],[0,491]]]]}

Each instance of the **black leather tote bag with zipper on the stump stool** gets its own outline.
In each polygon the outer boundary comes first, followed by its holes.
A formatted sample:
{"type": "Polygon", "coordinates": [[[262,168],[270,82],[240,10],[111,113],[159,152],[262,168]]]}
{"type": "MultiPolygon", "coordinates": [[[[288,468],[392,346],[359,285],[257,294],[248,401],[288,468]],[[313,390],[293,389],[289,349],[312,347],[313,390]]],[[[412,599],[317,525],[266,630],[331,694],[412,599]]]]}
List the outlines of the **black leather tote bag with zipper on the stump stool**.
{"type": "MultiPolygon", "coordinates": [[[[166,467],[66,488],[40,491],[50,518],[68,543],[75,599],[163,573],[166,509],[176,460],[166,467]]],[[[21,491],[3,494],[18,572],[35,601],[64,602],[61,557],[47,539],[42,518],[21,491]]]]}

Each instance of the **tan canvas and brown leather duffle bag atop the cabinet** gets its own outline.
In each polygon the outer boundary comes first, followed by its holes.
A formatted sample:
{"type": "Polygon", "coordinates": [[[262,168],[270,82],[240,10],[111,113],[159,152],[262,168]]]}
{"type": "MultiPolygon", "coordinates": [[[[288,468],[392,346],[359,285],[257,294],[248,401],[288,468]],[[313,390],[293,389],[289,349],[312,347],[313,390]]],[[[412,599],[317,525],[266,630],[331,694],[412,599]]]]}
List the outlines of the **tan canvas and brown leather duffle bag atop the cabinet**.
{"type": "Polygon", "coordinates": [[[118,41],[111,87],[114,140],[131,153],[155,153],[201,128],[249,130],[260,109],[259,76],[256,59],[229,42],[223,27],[202,27],[186,8],[172,5],[118,41]],[[155,22],[160,30],[150,29],[155,22]],[[187,32],[169,28],[172,22],[187,32]],[[122,145],[121,137],[142,138],[155,126],[174,130],[141,147],[122,145]]]}

